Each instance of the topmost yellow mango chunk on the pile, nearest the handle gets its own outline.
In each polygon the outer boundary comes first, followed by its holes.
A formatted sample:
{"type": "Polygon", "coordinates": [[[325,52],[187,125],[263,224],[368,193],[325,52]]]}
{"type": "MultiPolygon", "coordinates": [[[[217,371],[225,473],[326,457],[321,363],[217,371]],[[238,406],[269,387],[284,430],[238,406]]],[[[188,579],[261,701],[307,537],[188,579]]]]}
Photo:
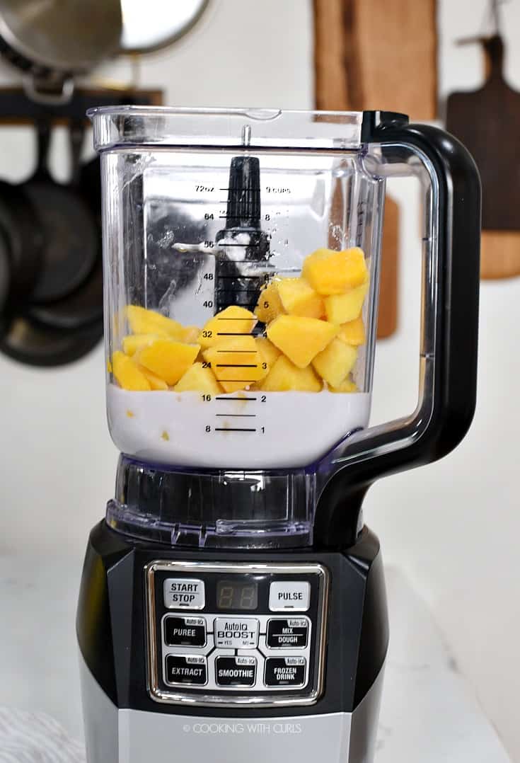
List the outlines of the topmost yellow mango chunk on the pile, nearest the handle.
{"type": "Polygon", "coordinates": [[[342,252],[318,249],[306,257],[302,275],[318,294],[343,294],[367,281],[368,269],[359,246],[342,252]]]}

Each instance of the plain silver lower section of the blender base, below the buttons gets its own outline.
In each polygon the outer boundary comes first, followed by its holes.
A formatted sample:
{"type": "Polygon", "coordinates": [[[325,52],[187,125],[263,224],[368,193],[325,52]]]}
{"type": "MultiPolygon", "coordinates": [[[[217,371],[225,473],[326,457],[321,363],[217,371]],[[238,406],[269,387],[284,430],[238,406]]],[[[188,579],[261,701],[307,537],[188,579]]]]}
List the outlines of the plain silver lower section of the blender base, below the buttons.
{"type": "Polygon", "coordinates": [[[372,763],[384,666],[353,713],[255,718],[119,710],[79,655],[87,763],[372,763]]]}

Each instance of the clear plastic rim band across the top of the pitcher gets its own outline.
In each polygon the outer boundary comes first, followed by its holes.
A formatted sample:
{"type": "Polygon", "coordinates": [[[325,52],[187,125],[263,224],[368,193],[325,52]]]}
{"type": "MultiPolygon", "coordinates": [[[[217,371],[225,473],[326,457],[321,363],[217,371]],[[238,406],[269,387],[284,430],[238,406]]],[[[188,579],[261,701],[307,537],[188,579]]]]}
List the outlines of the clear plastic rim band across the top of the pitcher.
{"type": "Polygon", "coordinates": [[[104,106],[90,109],[98,151],[125,146],[355,150],[362,111],[104,106]]]}

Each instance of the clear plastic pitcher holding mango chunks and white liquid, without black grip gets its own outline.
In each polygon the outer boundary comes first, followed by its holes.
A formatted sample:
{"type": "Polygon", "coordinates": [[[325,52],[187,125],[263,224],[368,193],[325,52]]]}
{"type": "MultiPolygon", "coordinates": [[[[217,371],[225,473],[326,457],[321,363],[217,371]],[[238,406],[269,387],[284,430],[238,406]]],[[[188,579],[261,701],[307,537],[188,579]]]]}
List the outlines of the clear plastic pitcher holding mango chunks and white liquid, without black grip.
{"type": "MultiPolygon", "coordinates": [[[[435,162],[413,140],[385,145],[375,112],[91,116],[108,421],[124,454],[109,520],[169,542],[308,542],[335,472],[418,436],[417,412],[410,431],[367,430],[391,172],[424,188],[420,426],[434,409],[435,162]]],[[[387,130],[410,128],[391,115],[387,130]]]]}

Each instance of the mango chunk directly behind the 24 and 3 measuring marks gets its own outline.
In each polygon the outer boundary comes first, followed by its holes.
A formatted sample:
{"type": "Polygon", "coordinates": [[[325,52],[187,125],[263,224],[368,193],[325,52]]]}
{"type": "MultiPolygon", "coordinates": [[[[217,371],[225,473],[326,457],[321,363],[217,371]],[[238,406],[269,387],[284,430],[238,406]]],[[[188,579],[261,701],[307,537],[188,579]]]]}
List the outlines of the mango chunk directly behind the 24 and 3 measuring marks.
{"type": "Polygon", "coordinates": [[[226,392],[249,388],[268,372],[252,336],[224,336],[204,350],[204,360],[226,392]]]}

